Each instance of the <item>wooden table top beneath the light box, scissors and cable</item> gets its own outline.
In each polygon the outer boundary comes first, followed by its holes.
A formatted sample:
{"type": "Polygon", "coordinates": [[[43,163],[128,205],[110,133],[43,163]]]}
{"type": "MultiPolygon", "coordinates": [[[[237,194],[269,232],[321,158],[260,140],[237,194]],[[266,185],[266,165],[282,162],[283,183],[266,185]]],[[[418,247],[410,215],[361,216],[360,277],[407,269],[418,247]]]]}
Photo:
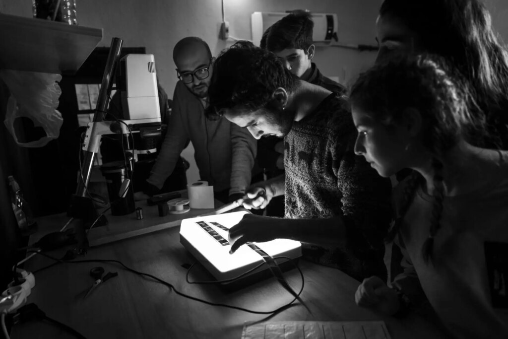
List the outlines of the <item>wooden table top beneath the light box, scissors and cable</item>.
{"type": "MultiPolygon", "coordinates": [[[[40,229],[59,229],[63,215],[46,217],[40,229]],[[59,223],[56,221],[60,220],[59,223]]],[[[61,258],[66,249],[50,252],[61,258]]],[[[227,292],[215,285],[190,285],[185,281],[185,264],[193,259],[179,242],[179,227],[123,239],[90,248],[77,260],[115,259],[172,284],[179,292],[211,302],[271,311],[293,298],[275,279],[266,279],[242,289],[227,292]]],[[[34,271],[48,265],[48,258],[35,256],[25,269],[34,271]]],[[[87,338],[224,338],[239,339],[245,322],[255,321],[385,321],[393,339],[446,337],[434,325],[417,315],[402,319],[380,316],[355,304],[359,282],[340,270],[299,260],[305,278],[300,304],[272,317],[207,305],[177,295],[168,287],[107,263],[62,263],[35,274],[36,287],[27,302],[35,302],[47,316],[71,326],[87,338]],[[86,299],[84,293],[93,283],[89,270],[103,266],[118,276],[99,286],[86,299]]],[[[285,272],[294,290],[301,287],[296,269],[285,272]]],[[[201,265],[191,274],[194,280],[209,280],[201,265]]],[[[13,339],[71,338],[46,322],[28,322],[14,326],[13,339]]]]}

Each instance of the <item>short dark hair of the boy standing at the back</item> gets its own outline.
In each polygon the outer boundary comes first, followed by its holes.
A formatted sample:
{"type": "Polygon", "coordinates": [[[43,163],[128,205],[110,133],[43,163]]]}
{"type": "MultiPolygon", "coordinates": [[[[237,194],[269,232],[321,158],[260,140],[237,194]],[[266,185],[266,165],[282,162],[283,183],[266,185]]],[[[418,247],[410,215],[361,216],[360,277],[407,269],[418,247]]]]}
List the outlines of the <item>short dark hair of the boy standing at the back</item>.
{"type": "MultiPolygon", "coordinates": [[[[263,34],[262,44],[272,52],[287,48],[307,49],[312,45],[314,21],[309,12],[296,10],[271,25],[263,34]]],[[[264,46],[262,46],[264,47],[264,46]]]]}

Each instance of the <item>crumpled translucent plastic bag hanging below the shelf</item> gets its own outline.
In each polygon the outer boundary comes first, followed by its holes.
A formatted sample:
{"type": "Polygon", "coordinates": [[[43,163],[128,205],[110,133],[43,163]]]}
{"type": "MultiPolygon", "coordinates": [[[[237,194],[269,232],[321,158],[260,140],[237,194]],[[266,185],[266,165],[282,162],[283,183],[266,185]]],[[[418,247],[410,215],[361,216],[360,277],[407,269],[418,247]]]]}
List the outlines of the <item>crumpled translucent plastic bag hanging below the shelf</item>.
{"type": "Polygon", "coordinates": [[[5,125],[16,143],[24,147],[42,147],[50,140],[58,138],[62,126],[62,115],[56,110],[61,95],[60,74],[37,73],[14,70],[1,70],[11,97],[7,103],[5,125]],[[46,136],[35,141],[19,142],[14,130],[14,120],[27,117],[34,126],[42,127],[46,136]]]}

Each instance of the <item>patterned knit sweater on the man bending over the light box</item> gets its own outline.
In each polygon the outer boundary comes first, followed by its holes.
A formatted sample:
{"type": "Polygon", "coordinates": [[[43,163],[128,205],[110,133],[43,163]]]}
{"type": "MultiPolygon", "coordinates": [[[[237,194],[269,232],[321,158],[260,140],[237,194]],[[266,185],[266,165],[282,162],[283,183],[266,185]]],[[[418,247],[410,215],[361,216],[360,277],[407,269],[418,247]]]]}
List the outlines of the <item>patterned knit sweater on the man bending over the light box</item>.
{"type": "Polygon", "coordinates": [[[304,245],[304,257],[362,280],[386,276],[384,237],[391,220],[390,180],[356,156],[346,98],[331,94],[295,121],[284,138],[285,218],[341,216],[345,248],[304,245]]]}

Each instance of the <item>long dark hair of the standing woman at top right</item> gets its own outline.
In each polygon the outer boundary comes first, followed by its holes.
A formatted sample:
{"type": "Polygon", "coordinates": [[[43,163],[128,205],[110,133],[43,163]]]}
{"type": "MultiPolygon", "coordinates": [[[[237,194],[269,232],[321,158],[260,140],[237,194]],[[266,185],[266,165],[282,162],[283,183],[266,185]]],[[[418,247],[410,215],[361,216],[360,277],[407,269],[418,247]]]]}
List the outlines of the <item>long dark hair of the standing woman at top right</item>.
{"type": "Polygon", "coordinates": [[[471,131],[479,146],[508,149],[508,53],[479,0],[385,0],[381,17],[392,15],[415,32],[428,53],[443,56],[469,82],[469,110],[488,122],[471,131]]]}

